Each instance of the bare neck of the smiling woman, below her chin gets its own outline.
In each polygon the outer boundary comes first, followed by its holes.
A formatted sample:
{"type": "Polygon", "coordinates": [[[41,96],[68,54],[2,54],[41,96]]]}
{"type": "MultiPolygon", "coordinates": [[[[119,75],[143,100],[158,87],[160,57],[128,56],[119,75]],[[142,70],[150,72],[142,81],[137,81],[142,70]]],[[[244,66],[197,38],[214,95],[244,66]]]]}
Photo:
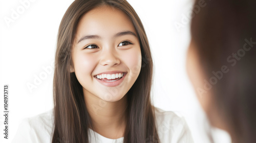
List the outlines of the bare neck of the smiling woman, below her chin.
{"type": "Polygon", "coordinates": [[[87,93],[84,100],[95,132],[112,139],[123,137],[127,118],[126,96],[116,102],[106,102],[87,93]]]}

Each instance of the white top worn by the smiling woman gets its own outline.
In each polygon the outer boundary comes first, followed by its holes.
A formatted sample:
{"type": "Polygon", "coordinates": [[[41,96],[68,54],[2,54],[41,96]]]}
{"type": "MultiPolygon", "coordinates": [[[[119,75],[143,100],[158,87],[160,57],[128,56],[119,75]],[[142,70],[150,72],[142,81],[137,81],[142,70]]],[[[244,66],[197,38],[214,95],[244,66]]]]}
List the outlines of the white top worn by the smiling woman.
{"type": "MultiPolygon", "coordinates": [[[[190,143],[194,142],[184,118],[177,116],[174,112],[155,110],[156,127],[161,143],[190,143]]],[[[12,143],[49,143],[53,133],[53,109],[34,117],[25,118],[18,127],[18,131],[12,143]]],[[[118,139],[106,138],[89,129],[91,143],[122,143],[123,137],[118,139]],[[97,141],[95,140],[95,137],[97,141]]],[[[152,142],[151,138],[146,140],[152,142]]]]}

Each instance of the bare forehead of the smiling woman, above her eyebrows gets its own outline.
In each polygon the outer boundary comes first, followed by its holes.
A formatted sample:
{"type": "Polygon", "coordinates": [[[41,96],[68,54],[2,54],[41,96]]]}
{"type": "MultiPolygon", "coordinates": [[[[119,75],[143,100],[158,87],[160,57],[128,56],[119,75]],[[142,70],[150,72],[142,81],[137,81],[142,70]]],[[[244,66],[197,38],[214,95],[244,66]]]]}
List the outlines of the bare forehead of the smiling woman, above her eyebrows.
{"type": "Polygon", "coordinates": [[[130,18],[120,10],[104,6],[93,9],[82,16],[78,23],[76,36],[98,35],[107,38],[124,31],[136,33],[130,18]]]}

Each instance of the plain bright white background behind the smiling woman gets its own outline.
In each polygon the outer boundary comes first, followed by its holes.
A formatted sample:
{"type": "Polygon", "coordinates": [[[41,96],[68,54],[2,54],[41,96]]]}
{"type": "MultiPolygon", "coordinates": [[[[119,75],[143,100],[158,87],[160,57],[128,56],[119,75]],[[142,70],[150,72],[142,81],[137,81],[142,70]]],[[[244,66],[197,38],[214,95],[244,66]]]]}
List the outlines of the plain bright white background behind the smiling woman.
{"type": "MultiPolygon", "coordinates": [[[[25,0],[1,0],[1,79],[9,84],[9,139],[4,139],[3,96],[0,100],[0,140],[11,142],[20,121],[53,108],[53,62],[59,23],[71,0],[34,0],[27,8],[25,0]],[[24,8],[24,11],[22,9],[24,8]],[[13,12],[19,12],[7,23],[13,12]],[[44,68],[48,68],[48,73],[44,68]],[[45,74],[45,75],[42,75],[45,74]],[[40,83],[35,80],[45,77],[40,83]],[[28,84],[35,85],[29,89],[28,84]]],[[[196,99],[185,70],[186,50],[190,41],[189,18],[193,5],[190,0],[128,1],[141,18],[154,61],[153,99],[156,107],[175,111],[184,116],[195,142],[207,143],[205,115],[196,99]],[[174,23],[181,23],[177,29],[174,23]]],[[[229,142],[225,132],[215,133],[217,142],[229,142]]]]}

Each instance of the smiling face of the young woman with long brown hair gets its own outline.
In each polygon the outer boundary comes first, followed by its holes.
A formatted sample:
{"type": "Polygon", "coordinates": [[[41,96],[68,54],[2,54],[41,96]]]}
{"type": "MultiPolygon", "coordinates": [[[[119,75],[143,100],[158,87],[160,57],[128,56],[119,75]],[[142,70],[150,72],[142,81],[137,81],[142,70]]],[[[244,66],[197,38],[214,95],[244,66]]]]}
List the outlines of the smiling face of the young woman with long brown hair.
{"type": "Polygon", "coordinates": [[[140,43],[129,17],[119,10],[103,6],[86,13],[73,45],[71,72],[84,96],[118,101],[139,76],[140,43]]]}

